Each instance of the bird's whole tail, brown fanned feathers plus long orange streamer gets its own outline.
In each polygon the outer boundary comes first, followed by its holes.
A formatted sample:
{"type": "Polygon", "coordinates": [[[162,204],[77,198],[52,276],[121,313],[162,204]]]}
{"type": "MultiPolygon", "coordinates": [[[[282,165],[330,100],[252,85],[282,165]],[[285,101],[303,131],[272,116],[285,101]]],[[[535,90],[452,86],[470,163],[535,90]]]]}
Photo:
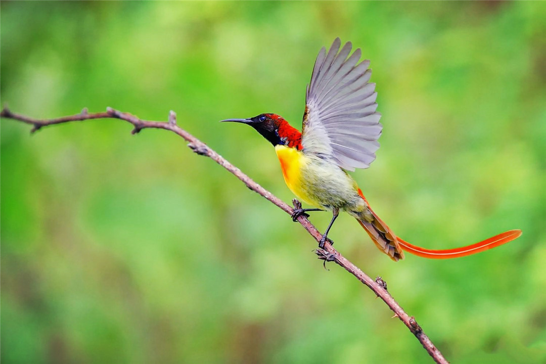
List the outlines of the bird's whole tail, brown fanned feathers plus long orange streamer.
{"type": "Polygon", "coordinates": [[[498,247],[502,244],[506,244],[514,239],[517,239],[521,235],[521,230],[508,230],[466,247],[441,250],[425,249],[410,244],[394,235],[389,226],[387,226],[387,224],[385,224],[377,216],[377,214],[373,212],[360,188],[358,189],[358,193],[364,199],[364,201],[366,201],[366,205],[371,214],[363,213],[361,219],[357,219],[357,221],[366,230],[368,235],[370,235],[372,241],[376,244],[379,250],[382,250],[395,261],[404,259],[402,250],[429,259],[459,258],[460,256],[472,255],[483,252],[484,250],[498,247]]]}

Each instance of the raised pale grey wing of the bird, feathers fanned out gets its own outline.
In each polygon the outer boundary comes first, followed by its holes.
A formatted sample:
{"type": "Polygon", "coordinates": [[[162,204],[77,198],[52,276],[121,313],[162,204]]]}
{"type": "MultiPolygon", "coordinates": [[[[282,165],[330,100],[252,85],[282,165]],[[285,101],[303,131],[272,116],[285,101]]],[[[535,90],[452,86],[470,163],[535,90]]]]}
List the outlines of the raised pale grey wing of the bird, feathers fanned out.
{"type": "Polygon", "coordinates": [[[376,112],[370,61],[360,63],[351,42],[341,51],[336,38],[328,53],[322,47],[307,86],[301,144],[310,153],[333,158],[343,169],[368,168],[379,148],[382,125],[376,112]]]}

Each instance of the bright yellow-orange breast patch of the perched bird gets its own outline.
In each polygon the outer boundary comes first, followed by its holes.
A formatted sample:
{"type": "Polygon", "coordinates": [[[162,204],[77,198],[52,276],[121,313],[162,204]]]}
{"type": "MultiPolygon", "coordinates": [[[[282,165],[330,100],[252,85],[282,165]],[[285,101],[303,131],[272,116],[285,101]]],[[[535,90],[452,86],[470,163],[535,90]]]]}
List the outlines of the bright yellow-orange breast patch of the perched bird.
{"type": "Polygon", "coordinates": [[[305,181],[302,178],[302,168],[305,168],[308,162],[307,157],[296,148],[289,148],[284,145],[276,145],[275,152],[277,152],[278,160],[281,162],[282,176],[288,188],[300,200],[308,205],[315,206],[316,203],[313,202],[313,199],[304,188],[305,181]]]}

